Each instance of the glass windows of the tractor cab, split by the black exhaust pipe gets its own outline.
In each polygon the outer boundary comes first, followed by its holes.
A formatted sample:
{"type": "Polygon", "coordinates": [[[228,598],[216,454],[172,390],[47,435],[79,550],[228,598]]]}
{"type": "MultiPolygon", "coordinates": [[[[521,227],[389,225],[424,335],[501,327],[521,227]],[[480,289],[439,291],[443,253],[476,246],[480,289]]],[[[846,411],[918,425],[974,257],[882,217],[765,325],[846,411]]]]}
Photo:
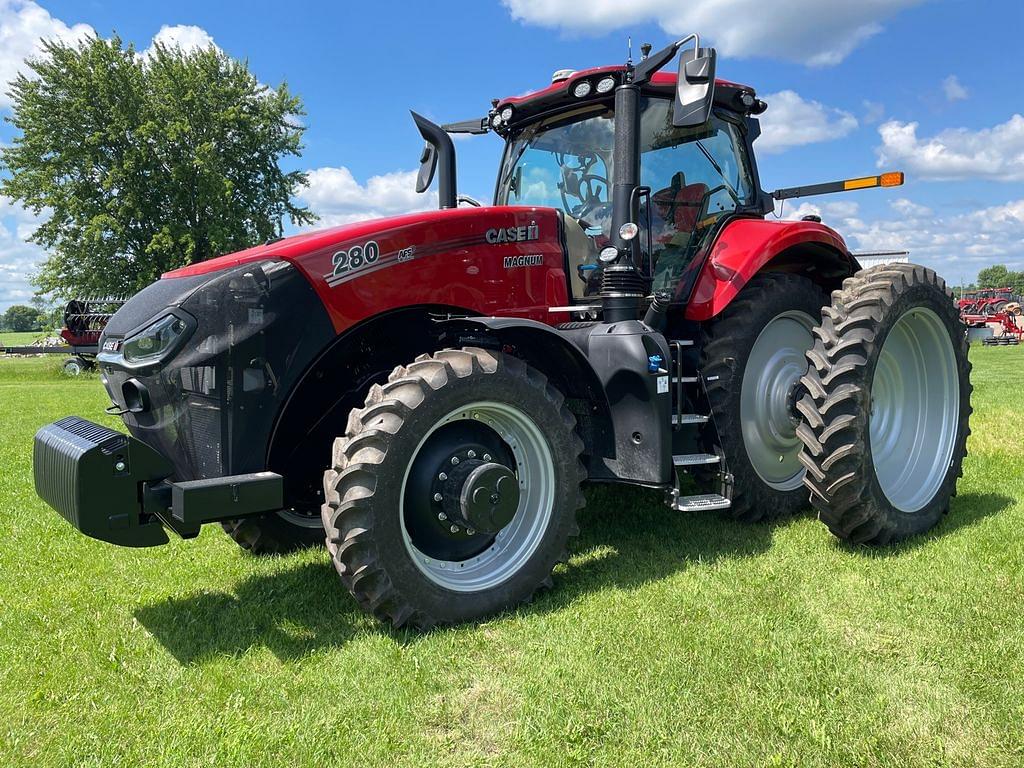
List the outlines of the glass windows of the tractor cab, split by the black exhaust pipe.
{"type": "MultiPolygon", "coordinates": [[[[677,128],[672,102],[645,96],[640,126],[640,183],[651,189],[637,222],[644,264],[655,290],[673,289],[716,223],[754,201],[754,184],[737,125],[713,116],[697,128],[677,128]]],[[[596,256],[610,236],[613,134],[613,113],[604,105],[534,123],[509,142],[499,177],[498,205],[557,208],[586,234],[584,244],[567,232],[570,249],[578,244],[570,253],[579,262],[578,298],[596,290],[596,256]]]]}

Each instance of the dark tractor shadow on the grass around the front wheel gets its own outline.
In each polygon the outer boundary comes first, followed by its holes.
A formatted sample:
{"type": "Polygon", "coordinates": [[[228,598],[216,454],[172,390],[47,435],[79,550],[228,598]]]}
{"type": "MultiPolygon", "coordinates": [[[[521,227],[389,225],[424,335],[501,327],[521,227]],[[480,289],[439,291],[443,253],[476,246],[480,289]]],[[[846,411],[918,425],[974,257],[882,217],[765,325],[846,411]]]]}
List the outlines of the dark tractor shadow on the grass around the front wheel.
{"type": "MultiPolygon", "coordinates": [[[[775,527],[791,522],[748,525],[714,513],[672,512],[659,495],[636,488],[597,486],[587,497],[579,514],[581,536],[570,561],[556,570],[555,589],[518,610],[560,610],[589,592],[638,587],[691,562],[756,555],[770,546],[775,527]]],[[[182,665],[254,648],[286,660],[365,635],[407,645],[431,634],[392,630],[365,614],[326,554],[316,562],[249,577],[230,593],[203,592],[142,606],[135,617],[182,665]]]]}

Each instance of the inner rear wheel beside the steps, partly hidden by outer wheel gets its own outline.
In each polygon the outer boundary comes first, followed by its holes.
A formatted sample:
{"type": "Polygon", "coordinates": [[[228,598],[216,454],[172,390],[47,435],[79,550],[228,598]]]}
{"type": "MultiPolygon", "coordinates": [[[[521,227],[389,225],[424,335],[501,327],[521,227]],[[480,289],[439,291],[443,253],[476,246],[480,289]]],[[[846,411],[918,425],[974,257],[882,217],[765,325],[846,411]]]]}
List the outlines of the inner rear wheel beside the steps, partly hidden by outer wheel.
{"type": "Polygon", "coordinates": [[[744,522],[808,506],[790,393],[806,373],[824,292],[807,278],[755,275],[703,329],[700,371],[715,418],[701,431],[733,475],[726,513],[744,522]],[[776,464],[776,457],[782,459],[776,464]]]}

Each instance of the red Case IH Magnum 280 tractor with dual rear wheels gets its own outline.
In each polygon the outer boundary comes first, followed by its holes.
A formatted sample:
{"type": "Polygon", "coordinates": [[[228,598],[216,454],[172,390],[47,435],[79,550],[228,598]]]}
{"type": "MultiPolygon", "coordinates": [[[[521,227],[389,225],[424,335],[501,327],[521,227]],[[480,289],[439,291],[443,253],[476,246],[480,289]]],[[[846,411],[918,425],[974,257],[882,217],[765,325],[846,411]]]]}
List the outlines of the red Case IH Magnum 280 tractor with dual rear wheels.
{"type": "Polygon", "coordinates": [[[902,174],[766,193],[754,89],[716,80],[696,36],[643,51],[477,120],[414,115],[439,211],[130,299],[98,355],[130,436],[43,427],[39,495],[124,546],[209,522],[253,552],[326,540],[366,609],[420,628],[550,585],[587,481],[752,522],[810,500],[856,544],[934,526],[971,412],[951,294],[922,266],[860,271],[818,220],[766,218],[902,174]],[[505,142],[492,206],[457,194],[459,132],[505,142]]]}

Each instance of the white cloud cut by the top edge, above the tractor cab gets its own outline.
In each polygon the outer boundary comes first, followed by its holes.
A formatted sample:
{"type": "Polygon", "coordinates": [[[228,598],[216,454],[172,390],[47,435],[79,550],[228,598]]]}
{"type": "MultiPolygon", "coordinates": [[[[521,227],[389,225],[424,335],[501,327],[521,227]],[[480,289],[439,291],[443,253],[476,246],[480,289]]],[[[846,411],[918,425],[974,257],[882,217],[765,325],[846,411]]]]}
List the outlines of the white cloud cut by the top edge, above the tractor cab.
{"type": "MultiPolygon", "coordinates": [[[[503,0],[512,17],[568,32],[602,34],[656,22],[676,36],[707,34],[727,56],[772,56],[836,65],[882,22],[922,0],[503,0]]],[[[656,41],[651,41],[656,42],[656,41]]]]}

